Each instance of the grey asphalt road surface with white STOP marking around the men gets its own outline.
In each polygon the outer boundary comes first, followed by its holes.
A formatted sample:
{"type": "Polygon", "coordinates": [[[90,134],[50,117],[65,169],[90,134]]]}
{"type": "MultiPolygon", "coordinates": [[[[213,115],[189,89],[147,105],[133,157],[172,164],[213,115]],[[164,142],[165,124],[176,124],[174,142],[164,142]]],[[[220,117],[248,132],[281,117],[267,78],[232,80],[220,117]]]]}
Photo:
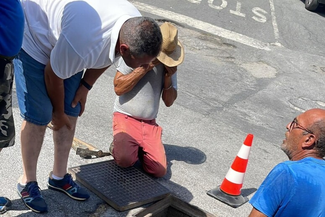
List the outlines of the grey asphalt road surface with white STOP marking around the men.
{"type": "MultiPolygon", "coordinates": [[[[287,123],[307,109],[325,107],[323,9],[309,12],[299,0],[132,2],[143,15],[179,24],[179,39],[186,48],[185,61],[178,67],[178,97],[170,108],[161,103],[157,118],[168,160],[167,175],[157,181],[215,216],[248,216],[249,203],[234,209],[206,192],[221,184],[246,135],[252,133],[242,189],[251,198],[268,172],[287,160],[280,150],[287,123]]],[[[111,66],[90,91],[76,130],[77,138],[103,150],[112,141],[114,75],[111,66]]],[[[0,194],[14,202],[4,216],[38,216],[16,193],[22,172],[16,98],[14,114],[16,145],[0,155],[0,194]]],[[[48,130],[38,165],[38,181],[50,209],[42,216],[124,217],[141,210],[117,212],[92,193],[80,203],[47,190],[53,165],[51,136],[48,130]]],[[[106,159],[111,157],[81,159],[71,150],[68,166],[106,159]]]]}

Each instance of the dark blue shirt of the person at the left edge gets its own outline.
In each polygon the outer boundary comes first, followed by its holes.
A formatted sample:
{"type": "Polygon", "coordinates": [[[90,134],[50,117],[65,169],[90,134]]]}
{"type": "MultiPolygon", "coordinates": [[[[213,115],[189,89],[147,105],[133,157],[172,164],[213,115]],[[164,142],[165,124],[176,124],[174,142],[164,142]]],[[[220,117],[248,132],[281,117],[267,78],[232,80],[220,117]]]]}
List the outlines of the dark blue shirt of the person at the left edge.
{"type": "Polygon", "coordinates": [[[22,45],[24,12],[19,0],[0,0],[0,55],[15,56],[22,45]]]}

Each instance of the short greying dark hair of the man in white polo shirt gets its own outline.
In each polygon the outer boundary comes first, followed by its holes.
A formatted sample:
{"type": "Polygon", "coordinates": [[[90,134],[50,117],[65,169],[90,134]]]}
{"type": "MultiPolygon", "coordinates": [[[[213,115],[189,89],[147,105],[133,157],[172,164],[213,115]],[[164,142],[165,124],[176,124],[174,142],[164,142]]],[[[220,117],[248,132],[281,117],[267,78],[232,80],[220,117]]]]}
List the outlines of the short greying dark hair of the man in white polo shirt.
{"type": "Polygon", "coordinates": [[[120,40],[129,46],[131,55],[135,57],[156,57],[161,48],[162,34],[152,18],[133,17],[123,23],[120,40]]]}

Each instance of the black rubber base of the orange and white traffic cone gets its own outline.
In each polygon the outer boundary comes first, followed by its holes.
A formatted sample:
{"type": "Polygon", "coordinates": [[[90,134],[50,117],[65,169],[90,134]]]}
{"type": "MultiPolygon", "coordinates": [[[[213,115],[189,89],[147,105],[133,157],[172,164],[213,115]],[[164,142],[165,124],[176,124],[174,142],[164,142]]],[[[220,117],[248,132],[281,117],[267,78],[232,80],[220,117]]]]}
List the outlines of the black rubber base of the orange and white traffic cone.
{"type": "Polygon", "coordinates": [[[228,194],[222,192],[220,190],[219,186],[208,191],[207,195],[214,197],[215,199],[220,200],[221,202],[223,202],[233,208],[240,207],[244,203],[248,202],[249,199],[247,197],[243,197],[241,195],[240,196],[228,195],[228,194]]]}

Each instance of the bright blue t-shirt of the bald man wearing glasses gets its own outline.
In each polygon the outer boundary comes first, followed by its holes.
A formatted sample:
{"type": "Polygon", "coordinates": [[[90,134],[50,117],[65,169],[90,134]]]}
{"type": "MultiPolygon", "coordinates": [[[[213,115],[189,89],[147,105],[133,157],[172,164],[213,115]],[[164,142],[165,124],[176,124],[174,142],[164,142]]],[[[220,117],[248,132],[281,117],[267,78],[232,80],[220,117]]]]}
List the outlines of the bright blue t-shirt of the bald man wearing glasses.
{"type": "Polygon", "coordinates": [[[325,160],[306,157],[278,164],[250,203],[268,217],[325,217],[325,160]]]}

